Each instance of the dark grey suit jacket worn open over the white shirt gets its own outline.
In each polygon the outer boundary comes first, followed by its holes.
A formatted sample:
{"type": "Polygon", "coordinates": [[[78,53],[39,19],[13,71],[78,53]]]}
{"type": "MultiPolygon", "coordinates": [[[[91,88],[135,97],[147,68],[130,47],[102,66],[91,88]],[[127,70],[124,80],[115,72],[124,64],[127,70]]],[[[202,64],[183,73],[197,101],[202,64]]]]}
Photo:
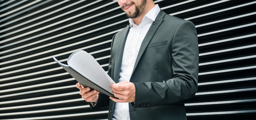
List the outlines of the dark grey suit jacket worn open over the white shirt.
{"type": "MultiPolygon", "coordinates": [[[[112,39],[108,72],[116,83],[129,29],[112,39]]],[[[142,41],[130,79],[136,89],[135,103],[129,104],[131,120],[186,120],[184,100],[197,91],[198,61],[194,24],[161,10],[142,41]]],[[[100,94],[95,108],[102,107],[109,107],[112,120],[115,103],[100,94]]]]}

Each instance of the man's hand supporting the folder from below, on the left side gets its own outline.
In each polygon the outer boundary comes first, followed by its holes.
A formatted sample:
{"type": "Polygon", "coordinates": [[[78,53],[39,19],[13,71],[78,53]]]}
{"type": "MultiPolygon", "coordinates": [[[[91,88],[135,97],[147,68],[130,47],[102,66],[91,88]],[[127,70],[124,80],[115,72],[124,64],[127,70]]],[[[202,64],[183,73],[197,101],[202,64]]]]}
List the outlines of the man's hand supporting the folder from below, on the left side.
{"type": "Polygon", "coordinates": [[[86,102],[95,102],[99,98],[99,91],[91,90],[90,87],[83,87],[80,83],[76,83],[76,88],[80,90],[79,94],[86,102]]]}

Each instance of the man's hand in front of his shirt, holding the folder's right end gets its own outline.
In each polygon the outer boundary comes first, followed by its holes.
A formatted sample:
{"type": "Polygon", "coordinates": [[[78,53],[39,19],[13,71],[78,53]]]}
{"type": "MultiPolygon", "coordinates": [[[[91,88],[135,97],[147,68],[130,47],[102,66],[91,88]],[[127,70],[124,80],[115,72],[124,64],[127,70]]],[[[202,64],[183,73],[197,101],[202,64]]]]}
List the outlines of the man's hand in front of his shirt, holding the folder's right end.
{"type": "Polygon", "coordinates": [[[117,103],[132,103],[135,101],[135,85],[132,82],[124,81],[117,84],[111,84],[113,94],[116,98],[109,98],[117,103]]]}

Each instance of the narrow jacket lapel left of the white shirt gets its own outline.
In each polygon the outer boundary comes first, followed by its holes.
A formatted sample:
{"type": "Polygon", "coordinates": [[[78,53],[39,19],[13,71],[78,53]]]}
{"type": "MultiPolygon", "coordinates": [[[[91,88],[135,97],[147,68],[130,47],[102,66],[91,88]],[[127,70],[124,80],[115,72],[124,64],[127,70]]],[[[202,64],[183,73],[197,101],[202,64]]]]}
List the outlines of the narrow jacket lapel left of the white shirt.
{"type": "Polygon", "coordinates": [[[123,58],[123,52],[124,52],[124,45],[126,43],[126,38],[130,30],[130,25],[126,26],[124,28],[123,33],[120,37],[117,37],[116,40],[118,40],[118,46],[116,49],[116,56],[115,56],[115,68],[114,68],[114,81],[116,83],[119,82],[119,74],[121,70],[121,63],[123,58]]]}

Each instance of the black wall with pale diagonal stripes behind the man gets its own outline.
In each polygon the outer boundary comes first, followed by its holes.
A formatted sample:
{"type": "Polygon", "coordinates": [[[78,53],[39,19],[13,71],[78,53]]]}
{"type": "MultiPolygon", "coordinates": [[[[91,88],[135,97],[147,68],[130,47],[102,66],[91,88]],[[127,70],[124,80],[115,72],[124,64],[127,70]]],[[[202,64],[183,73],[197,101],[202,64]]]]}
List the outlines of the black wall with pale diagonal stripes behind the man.
{"type": "MultiPolygon", "coordinates": [[[[188,120],[256,120],[256,1],[154,0],[198,31],[198,92],[188,120]]],[[[112,36],[128,18],[112,0],[0,0],[0,119],[105,120],[65,63],[86,50],[107,70],[112,36]]]]}

